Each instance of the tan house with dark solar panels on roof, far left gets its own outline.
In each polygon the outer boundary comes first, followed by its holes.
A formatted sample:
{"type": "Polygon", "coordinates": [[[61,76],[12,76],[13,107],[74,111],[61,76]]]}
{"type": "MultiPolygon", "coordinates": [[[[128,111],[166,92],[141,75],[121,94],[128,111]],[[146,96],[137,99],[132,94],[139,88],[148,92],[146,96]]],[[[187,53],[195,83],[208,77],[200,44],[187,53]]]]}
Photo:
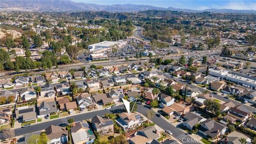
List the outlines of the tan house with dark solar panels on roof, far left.
{"type": "Polygon", "coordinates": [[[19,107],[15,110],[16,118],[21,118],[23,122],[34,121],[36,119],[35,106],[19,107]]]}

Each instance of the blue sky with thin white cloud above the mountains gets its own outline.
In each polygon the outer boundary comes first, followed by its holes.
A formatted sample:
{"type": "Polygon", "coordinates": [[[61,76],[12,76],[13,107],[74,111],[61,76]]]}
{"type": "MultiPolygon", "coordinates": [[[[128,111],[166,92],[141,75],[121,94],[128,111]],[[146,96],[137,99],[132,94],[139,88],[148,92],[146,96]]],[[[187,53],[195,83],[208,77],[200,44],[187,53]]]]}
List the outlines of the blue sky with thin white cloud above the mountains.
{"type": "Polygon", "coordinates": [[[256,10],[256,0],[254,1],[205,1],[205,0],[131,0],[131,1],[108,1],[108,0],[71,0],[74,2],[83,3],[94,3],[102,5],[112,5],[112,4],[143,4],[143,5],[153,5],[158,7],[175,7],[181,9],[194,9],[194,10],[204,10],[204,9],[235,9],[235,10],[256,10]]]}

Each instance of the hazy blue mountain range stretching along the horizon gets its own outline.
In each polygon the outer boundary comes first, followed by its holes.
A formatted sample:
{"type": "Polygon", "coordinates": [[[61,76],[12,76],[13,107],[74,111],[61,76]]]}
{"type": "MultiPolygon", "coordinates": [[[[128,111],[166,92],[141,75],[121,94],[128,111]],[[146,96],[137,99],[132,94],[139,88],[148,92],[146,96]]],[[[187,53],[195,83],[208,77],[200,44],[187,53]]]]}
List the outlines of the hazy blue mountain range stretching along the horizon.
{"type": "Polygon", "coordinates": [[[2,11],[33,11],[33,12],[78,12],[78,11],[107,11],[107,12],[131,12],[146,10],[171,10],[183,12],[214,12],[214,13],[256,13],[255,10],[232,9],[206,9],[192,10],[174,7],[156,7],[151,5],[115,4],[98,5],[90,3],[76,3],[70,0],[1,0],[2,11]]]}

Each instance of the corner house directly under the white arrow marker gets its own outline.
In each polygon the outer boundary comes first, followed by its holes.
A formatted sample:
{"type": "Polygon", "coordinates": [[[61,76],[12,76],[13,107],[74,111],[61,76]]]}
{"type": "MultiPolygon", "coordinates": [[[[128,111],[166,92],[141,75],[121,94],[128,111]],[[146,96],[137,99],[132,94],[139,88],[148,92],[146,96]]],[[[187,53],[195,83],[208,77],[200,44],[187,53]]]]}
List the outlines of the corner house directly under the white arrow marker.
{"type": "Polygon", "coordinates": [[[119,118],[116,119],[117,124],[125,131],[133,129],[143,121],[143,117],[137,113],[130,113],[130,115],[128,113],[121,113],[119,118]]]}

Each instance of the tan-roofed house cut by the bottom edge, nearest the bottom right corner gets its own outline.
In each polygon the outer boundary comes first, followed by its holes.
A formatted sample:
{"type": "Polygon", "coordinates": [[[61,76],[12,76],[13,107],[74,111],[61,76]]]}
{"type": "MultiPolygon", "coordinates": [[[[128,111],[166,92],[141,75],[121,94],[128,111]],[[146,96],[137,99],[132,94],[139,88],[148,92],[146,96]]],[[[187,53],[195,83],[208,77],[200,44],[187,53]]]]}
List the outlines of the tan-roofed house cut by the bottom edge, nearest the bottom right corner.
{"type": "Polygon", "coordinates": [[[251,139],[244,135],[243,133],[234,131],[229,133],[225,138],[221,139],[218,143],[220,144],[236,144],[236,143],[241,143],[240,139],[244,138],[246,143],[251,143],[251,139]]]}

